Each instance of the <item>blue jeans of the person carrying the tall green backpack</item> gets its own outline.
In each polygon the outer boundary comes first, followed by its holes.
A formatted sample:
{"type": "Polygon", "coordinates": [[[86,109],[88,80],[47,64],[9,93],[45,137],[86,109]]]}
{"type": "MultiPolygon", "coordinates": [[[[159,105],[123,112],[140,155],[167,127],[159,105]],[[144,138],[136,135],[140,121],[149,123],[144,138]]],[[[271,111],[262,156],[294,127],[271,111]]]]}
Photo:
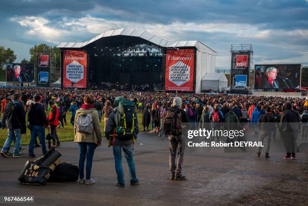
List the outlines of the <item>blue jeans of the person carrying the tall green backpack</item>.
{"type": "Polygon", "coordinates": [[[127,170],[130,183],[133,184],[138,182],[138,179],[136,178],[135,163],[133,160],[132,145],[114,145],[112,149],[115,162],[115,169],[118,176],[118,183],[125,185],[124,172],[122,167],[122,149],[127,163],[127,170]]]}

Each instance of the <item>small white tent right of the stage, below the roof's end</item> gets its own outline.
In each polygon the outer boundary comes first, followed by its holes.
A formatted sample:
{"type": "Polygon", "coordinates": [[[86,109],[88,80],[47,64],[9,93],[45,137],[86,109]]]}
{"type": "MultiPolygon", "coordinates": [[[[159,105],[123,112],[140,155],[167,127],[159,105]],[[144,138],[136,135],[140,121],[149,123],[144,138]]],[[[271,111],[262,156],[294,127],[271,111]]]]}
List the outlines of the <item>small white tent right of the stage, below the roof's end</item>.
{"type": "Polygon", "coordinates": [[[206,73],[201,79],[201,92],[206,90],[222,91],[228,87],[228,80],[223,73],[206,73]]]}

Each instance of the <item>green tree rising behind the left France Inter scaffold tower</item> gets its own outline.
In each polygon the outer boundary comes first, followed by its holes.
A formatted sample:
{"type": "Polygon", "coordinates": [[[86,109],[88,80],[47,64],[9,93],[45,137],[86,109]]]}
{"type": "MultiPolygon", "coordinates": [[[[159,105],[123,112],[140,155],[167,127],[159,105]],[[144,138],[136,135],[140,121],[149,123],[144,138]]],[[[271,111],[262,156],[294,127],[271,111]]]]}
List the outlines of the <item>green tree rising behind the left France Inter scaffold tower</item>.
{"type": "Polygon", "coordinates": [[[55,53],[56,54],[56,67],[60,67],[60,49],[57,48],[56,46],[49,46],[45,43],[41,43],[39,45],[34,45],[29,49],[29,54],[30,54],[30,62],[29,63],[34,63],[37,64],[37,54],[38,52],[46,52],[49,53],[55,53]]]}

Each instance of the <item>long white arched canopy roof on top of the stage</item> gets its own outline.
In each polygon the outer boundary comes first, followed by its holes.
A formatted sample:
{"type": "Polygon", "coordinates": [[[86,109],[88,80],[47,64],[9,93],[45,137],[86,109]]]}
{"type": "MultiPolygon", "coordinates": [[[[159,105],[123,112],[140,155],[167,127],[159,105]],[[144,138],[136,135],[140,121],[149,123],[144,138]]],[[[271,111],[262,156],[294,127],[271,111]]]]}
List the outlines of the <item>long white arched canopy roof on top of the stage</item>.
{"type": "Polygon", "coordinates": [[[150,41],[162,47],[196,47],[199,51],[210,53],[212,55],[216,55],[216,52],[213,49],[209,48],[208,46],[201,43],[200,41],[167,41],[145,30],[139,30],[139,29],[133,29],[133,28],[123,28],[123,29],[115,29],[115,30],[106,31],[86,42],[60,42],[57,45],[57,47],[58,48],[82,48],[94,41],[97,41],[98,39],[101,39],[104,37],[110,37],[110,36],[118,36],[118,35],[140,37],[142,39],[145,39],[147,41],[150,41]]]}

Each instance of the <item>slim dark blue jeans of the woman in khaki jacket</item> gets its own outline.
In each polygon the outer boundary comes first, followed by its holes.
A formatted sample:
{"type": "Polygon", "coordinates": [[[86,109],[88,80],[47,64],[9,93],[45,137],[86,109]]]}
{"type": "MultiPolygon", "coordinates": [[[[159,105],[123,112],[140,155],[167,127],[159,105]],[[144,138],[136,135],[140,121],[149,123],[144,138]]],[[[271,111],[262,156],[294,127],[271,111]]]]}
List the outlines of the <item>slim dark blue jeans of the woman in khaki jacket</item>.
{"type": "Polygon", "coordinates": [[[78,143],[79,144],[79,178],[84,178],[84,170],[85,170],[85,160],[87,157],[86,163],[86,179],[91,178],[91,169],[94,151],[96,148],[95,143],[78,143]]]}

